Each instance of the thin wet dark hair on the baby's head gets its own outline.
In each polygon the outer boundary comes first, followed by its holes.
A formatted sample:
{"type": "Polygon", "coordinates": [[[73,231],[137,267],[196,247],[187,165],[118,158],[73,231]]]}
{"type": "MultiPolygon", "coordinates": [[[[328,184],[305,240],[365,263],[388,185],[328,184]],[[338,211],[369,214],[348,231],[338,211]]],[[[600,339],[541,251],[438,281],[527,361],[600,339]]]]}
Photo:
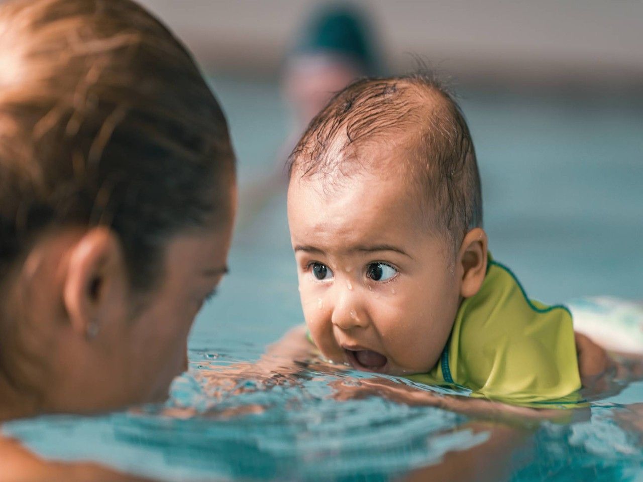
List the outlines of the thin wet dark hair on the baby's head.
{"type": "Polygon", "coordinates": [[[480,174],[469,127],[453,96],[431,73],[354,82],[311,121],[289,157],[291,181],[318,176],[325,186],[379,169],[408,177],[419,191],[428,226],[455,242],[482,226],[480,174]],[[403,165],[374,166],[359,155],[363,148],[395,150],[403,165]],[[427,215],[426,206],[435,215],[427,215]]]}

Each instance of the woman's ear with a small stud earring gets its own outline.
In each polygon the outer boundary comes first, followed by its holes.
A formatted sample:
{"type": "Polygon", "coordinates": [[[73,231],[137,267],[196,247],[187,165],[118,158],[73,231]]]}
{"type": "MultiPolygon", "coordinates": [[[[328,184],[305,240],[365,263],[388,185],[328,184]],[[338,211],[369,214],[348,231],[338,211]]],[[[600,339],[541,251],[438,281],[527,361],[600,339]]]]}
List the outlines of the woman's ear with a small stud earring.
{"type": "Polygon", "coordinates": [[[123,312],[127,271],[116,235],[109,228],[87,231],[69,251],[62,298],[69,323],[87,339],[123,312]]]}

